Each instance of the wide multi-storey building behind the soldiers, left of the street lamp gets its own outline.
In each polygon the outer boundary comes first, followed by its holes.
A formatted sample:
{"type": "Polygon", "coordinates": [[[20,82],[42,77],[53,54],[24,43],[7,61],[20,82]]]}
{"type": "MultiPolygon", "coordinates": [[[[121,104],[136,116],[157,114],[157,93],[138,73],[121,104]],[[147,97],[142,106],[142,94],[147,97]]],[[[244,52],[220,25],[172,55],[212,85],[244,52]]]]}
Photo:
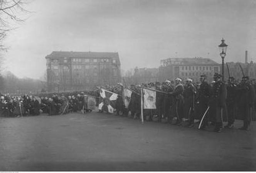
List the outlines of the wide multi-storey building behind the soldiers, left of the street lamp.
{"type": "Polygon", "coordinates": [[[183,80],[190,78],[194,82],[199,82],[202,74],[207,76],[208,81],[212,81],[214,73],[220,73],[220,65],[209,58],[169,58],[161,60],[160,63],[160,81],[179,77],[183,80]]]}

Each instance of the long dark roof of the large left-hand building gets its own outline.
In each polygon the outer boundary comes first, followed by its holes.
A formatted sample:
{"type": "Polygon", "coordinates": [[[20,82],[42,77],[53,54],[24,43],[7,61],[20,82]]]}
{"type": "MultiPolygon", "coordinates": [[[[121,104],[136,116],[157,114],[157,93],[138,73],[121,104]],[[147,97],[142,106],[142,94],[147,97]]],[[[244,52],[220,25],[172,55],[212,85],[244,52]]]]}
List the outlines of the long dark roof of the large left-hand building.
{"type": "Polygon", "coordinates": [[[116,58],[118,59],[118,52],[65,52],[65,51],[53,51],[45,58],[116,58]]]}

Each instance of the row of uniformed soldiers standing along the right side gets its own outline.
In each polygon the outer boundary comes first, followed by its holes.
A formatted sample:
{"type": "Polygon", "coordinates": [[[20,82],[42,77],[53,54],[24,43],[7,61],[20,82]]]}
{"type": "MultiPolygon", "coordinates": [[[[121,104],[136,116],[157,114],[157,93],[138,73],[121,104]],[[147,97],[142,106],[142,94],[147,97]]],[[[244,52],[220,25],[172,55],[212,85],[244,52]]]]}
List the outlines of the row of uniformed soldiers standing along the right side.
{"type": "MultiPolygon", "coordinates": [[[[200,129],[205,129],[209,122],[215,125],[214,131],[221,132],[223,122],[227,121],[225,128],[232,128],[235,119],[243,119],[243,126],[239,129],[248,130],[256,111],[255,90],[256,83],[244,76],[241,82],[229,77],[227,82],[222,81],[221,74],[214,74],[214,81],[207,82],[206,76],[200,76],[200,83],[194,84],[192,79],[187,79],[185,84],[182,79],[175,79],[175,83],[166,80],[142,84],[142,87],[161,91],[157,92],[156,107],[154,110],[144,110],[145,118],[164,121],[181,125],[188,121],[188,126],[194,126],[194,120],[201,120],[200,129]]],[[[128,112],[128,116],[139,117],[141,111],[139,85],[131,85],[131,95],[128,109],[117,109],[128,112]]],[[[117,111],[117,114],[120,114],[117,111]]]]}

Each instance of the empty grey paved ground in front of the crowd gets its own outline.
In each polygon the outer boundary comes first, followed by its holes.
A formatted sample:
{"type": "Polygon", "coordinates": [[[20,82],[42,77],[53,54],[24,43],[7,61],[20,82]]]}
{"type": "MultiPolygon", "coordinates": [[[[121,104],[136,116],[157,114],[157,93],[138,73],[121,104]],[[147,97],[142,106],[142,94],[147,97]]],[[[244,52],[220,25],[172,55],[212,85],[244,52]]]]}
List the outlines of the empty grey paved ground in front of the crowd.
{"type": "Polygon", "coordinates": [[[0,118],[1,171],[256,170],[256,123],[222,133],[112,114],[0,118]]]}

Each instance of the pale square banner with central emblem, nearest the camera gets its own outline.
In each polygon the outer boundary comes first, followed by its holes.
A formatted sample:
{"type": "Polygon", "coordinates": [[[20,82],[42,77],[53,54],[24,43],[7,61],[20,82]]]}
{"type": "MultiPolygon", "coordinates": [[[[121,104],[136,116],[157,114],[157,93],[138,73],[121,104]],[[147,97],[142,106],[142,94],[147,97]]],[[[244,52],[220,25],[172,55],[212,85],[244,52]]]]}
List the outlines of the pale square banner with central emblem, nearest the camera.
{"type": "Polygon", "coordinates": [[[143,108],[144,109],[157,109],[156,106],[157,92],[150,89],[143,88],[143,108]]]}

